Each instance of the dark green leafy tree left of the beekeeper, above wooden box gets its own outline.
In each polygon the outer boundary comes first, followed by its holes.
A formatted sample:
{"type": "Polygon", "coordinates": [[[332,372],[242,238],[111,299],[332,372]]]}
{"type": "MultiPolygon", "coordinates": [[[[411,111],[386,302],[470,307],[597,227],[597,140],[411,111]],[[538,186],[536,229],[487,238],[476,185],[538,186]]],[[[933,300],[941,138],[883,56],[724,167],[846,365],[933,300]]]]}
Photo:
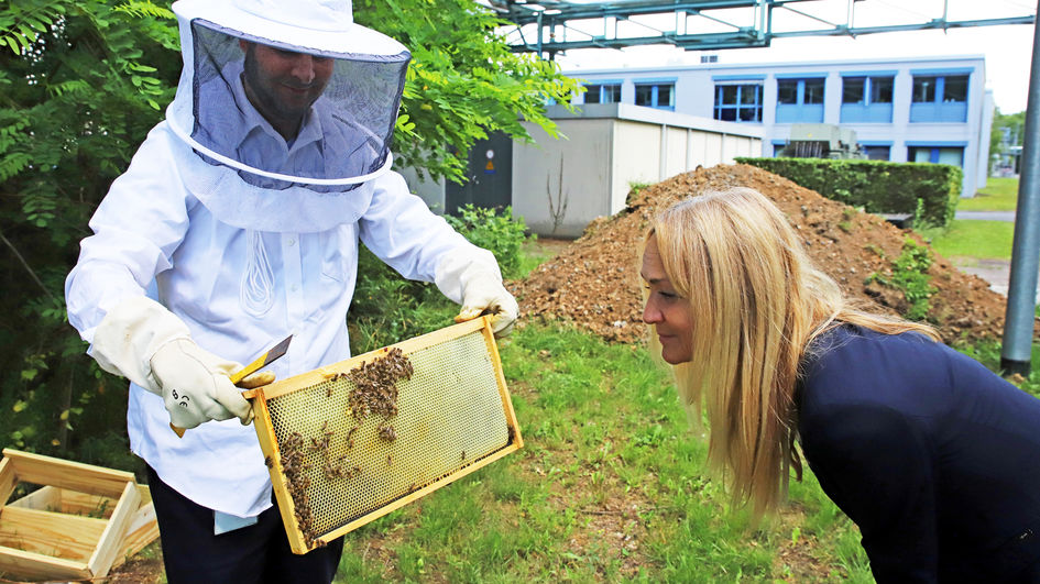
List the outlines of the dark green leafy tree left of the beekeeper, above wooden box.
{"type": "Polygon", "coordinates": [[[64,278],[87,219],[173,96],[172,16],[133,0],[0,4],[3,445],[98,452],[122,434],[124,392],[106,393],[114,379],[83,355],[64,278]]]}

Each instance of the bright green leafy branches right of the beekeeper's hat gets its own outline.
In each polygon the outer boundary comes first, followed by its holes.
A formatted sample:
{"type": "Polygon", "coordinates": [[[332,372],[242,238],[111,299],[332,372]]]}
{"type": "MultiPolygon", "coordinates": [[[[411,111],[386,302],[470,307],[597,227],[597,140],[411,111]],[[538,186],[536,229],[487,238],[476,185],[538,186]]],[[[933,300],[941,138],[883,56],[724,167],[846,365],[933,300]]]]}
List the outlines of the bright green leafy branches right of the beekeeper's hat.
{"type": "Polygon", "coordinates": [[[529,139],[524,120],[557,136],[545,104],[579,87],[555,62],[512,53],[496,32],[506,22],[473,0],[355,0],[354,20],[412,52],[395,154],[435,178],[464,181],[474,142],[493,131],[529,139]]]}

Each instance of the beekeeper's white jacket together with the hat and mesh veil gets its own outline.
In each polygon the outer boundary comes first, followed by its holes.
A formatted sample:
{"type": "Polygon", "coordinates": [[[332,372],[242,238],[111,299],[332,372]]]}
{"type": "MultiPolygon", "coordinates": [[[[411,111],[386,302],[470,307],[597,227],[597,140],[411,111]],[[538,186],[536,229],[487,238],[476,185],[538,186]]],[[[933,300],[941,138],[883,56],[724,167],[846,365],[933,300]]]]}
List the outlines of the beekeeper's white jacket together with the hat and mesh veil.
{"type": "MultiPolygon", "coordinates": [[[[348,0],[179,0],[172,8],[185,63],[177,95],[98,207],[94,235],[66,280],[69,321],[102,366],[120,367],[95,343],[99,323],[144,295],[225,360],[249,363],[294,334],[271,367],[280,378],[342,361],[359,240],[405,277],[437,282],[455,301],[460,266],[501,277],[490,252],[388,172],[409,54],[354,24],[348,0]],[[243,92],[243,59],[258,44],[335,60],[289,140],[243,92]]],[[[136,376],[119,372],[151,383],[140,370],[152,355],[140,356],[122,365],[136,376]]],[[[252,427],[209,421],[182,439],[168,423],[163,398],[131,384],[131,449],[166,484],[221,514],[252,517],[271,506],[252,427]]]]}

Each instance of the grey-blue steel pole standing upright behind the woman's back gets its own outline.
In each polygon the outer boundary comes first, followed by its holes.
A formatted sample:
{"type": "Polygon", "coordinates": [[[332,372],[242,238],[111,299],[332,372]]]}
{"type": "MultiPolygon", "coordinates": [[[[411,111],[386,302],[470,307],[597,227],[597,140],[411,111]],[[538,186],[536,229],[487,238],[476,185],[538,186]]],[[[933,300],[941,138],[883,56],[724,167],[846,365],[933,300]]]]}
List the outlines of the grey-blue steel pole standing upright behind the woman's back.
{"type": "MultiPolygon", "coordinates": [[[[1037,10],[1040,11],[1040,2],[1037,10]]],[[[1022,142],[1011,275],[1000,367],[1006,374],[1029,375],[1032,330],[1036,318],[1037,272],[1040,269],[1040,27],[1033,23],[1029,99],[1026,102],[1026,135],[1022,142]]]]}

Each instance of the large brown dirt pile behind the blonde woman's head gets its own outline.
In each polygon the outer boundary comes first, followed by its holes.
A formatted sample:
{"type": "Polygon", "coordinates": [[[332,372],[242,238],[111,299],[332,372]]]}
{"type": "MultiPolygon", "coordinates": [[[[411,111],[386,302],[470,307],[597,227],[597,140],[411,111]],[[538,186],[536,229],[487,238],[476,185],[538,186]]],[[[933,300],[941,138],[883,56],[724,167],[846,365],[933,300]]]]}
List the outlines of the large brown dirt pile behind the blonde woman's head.
{"type": "MultiPolygon", "coordinates": [[[[803,234],[817,266],[838,280],[846,295],[905,313],[908,305],[901,291],[865,282],[874,273],[890,276],[904,240],[909,235],[921,242],[916,233],[760,168],[719,165],[647,187],[626,211],[593,221],[580,239],[527,278],[508,283],[522,318],[571,321],[610,341],[643,339],[636,251],[648,220],[679,199],[734,186],[754,188],[776,202],[803,234]]],[[[986,280],[959,271],[934,253],[929,274],[935,288],[929,320],[946,342],[1000,339],[1006,299],[990,290],[986,280]]]]}

